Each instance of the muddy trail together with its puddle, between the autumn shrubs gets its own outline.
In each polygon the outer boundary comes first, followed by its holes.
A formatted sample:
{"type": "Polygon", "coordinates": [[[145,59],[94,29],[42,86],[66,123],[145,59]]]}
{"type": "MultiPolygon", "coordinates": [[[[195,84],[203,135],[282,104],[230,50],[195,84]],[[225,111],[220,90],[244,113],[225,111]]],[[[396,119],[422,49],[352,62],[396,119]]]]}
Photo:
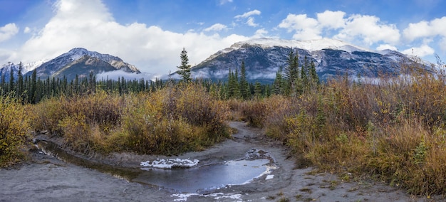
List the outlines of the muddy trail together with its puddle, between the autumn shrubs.
{"type": "MultiPolygon", "coordinates": [[[[243,122],[229,125],[237,129],[232,139],[180,156],[76,156],[41,148],[31,154],[31,162],[0,169],[0,201],[443,200],[410,196],[383,182],[343,181],[335,174],[313,172],[261,129],[243,122]],[[196,164],[187,169],[153,167],[160,159],[187,159],[196,164]],[[152,162],[152,166],[142,166],[142,162],[152,162]]],[[[56,140],[43,140],[58,146],[56,140]]]]}

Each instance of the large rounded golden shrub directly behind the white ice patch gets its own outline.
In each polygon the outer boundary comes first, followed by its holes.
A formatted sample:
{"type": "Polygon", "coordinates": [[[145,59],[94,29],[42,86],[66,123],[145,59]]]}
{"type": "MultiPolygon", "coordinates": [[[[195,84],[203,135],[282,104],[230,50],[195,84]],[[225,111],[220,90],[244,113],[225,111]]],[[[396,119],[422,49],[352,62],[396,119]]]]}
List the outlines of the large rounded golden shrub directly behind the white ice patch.
{"type": "Polygon", "coordinates": [[[166,87],[123,115],[123,147],[142,154],[201,150],[229,137],[227,106],[199,85],[166,87]]]}

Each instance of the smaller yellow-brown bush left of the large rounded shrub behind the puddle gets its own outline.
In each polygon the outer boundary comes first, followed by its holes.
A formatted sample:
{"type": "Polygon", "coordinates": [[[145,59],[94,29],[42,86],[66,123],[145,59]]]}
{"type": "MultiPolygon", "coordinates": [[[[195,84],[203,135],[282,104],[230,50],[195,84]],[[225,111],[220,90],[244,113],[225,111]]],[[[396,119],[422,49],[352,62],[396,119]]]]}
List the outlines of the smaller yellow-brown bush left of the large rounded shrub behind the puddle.
{"type": "Polygon", "coordinates": [[[123,107],[120,97],[100,91],[83,97],[53,97],[33,106],[36,114],[33,128],[48,130],[52,135],[63,137],[67,147],[86,152],[95,148],[94,127],[103,133],[116,127],[123,107]]]}

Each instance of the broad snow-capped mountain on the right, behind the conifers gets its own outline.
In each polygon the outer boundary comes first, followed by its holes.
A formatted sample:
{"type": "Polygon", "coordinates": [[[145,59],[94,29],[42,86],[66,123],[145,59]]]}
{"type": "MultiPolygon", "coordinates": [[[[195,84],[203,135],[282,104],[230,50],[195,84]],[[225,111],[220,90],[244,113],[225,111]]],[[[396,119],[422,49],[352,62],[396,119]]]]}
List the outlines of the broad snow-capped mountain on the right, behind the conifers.
{"type": "Polygon", "coordinates": [[[305,57],[313,60],[316,72],[323,80],[346,73],[352,77],[395,74],[399,73],[400,65],[412,61],[398,51],[370,50],[329,38],[311,41],[257,38],[219,50],[193,67],[192,77],[224,80],[229,69],[239,69],[244,61],[248,80],[271,83],[277,70],[286,67],[291,48],[294,53],[299,53],[300,63],[305,57]]]}

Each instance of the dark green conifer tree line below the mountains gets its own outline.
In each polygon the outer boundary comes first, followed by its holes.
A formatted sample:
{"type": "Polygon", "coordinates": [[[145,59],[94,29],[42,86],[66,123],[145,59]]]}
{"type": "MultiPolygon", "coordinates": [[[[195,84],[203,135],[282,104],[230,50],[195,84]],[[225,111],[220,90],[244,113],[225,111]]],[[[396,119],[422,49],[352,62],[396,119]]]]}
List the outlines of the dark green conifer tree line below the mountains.
{"type": "Polygon", "coordinates": [[[177,85],[178,83],[201,83],[215,97],[222,100],[227,99],[243,99],[249,100],[253,98],[269,97],[271,95],[296,96],[313,90],[320,84],[320,80],[316,73],[313,60],[307,57],[300,63],[298,53],[294,53],[291,49],[289,58],[285,68],[279,68],[276,73],[274,83],[262,84],[259,81],[249,83],[247,80],[246,65],[242,61],[240,68],[234,70],[229,69],[226,81],[212,80],[192,80],[190,68],[188,64],[187,51],[183,48],[181,55],[180,70],[181,80],[145,80],[126,79],[124,77],[113,80],[103,78],[97,80],[93,73],[88,76],[78,76],[74,80],[63,78],[45,78],[37,77],[36,70],[33,70],[31,76],[23,75],[23,67],[19,64],[19,73],[14,77],[14,71],[10,71],[9,80],[6,75],[1,75],[0,94],[1,96],[15,97],[22,103],[35,104],[50,97],[58,97],[61,95],[88,95],[95,93],[97,90],[103,90],[108,93],[118,93],[124,95],[128,93],[139,92],[155,92],[165,85],[177,85]]]}

